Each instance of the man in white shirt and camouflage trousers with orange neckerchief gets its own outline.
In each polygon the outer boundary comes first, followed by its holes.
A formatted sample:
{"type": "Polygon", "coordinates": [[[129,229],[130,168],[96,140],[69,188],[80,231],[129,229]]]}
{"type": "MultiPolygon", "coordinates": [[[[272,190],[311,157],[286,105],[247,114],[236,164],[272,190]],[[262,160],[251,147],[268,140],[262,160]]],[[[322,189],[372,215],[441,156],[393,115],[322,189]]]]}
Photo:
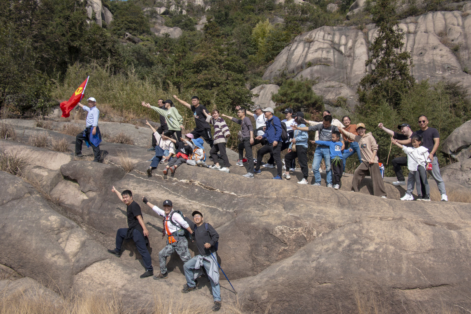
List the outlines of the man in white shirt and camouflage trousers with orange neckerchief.
{"type": "Polygon", "coordinates": [[[173,210],[173,204],[170,200],[163,201],[163,210],[147,201],[146,197],[142,201],[147,204],[157,215],[163,217],[162,238],[167,236],[167,245],[159,252],[160,274],[155,275],[154,279],[169,278],[167,274],[167,258],[177,252],[181,260],[185,263],[191,258],[188,250],[188,241],[185,237],[185,230],[191,234],[193,231],[178,211],[173,210]]]}

